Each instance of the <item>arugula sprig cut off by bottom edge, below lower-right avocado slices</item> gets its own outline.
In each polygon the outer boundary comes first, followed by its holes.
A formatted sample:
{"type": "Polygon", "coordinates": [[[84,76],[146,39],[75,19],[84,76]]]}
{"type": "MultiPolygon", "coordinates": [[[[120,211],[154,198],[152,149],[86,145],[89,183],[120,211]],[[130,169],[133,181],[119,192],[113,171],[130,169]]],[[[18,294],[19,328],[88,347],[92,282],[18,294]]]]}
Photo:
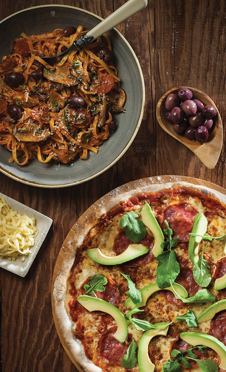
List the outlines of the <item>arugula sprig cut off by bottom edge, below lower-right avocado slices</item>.
{"type": "Polygon", "coordinates": [[[180,372],[182,370],[182,366],[180,365],[179,361],[186,368],[191,368],[192,365],[189,363],[189,359],[194,360],[198,364],[201,372],[217,372],[218,365],[213,360],[197,359],[197,356],[193,353],[193,349],[198,349],[202,353],[206,353],[203,348],[205,348],[205,346],[194,346],[185,351],[173,349],[171,352],[172,359],[168,359],[163,365],[162,372],[180,372]],[[188,356],[185,354],[188,354],[188,356]]]}

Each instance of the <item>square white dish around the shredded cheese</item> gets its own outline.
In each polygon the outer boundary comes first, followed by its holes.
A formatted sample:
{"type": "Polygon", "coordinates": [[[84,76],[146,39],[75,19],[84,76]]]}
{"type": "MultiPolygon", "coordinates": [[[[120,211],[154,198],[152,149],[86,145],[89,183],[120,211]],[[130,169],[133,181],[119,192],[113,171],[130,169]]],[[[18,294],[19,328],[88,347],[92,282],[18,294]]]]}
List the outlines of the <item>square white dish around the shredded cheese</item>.
{"type": "Polygon", "coordinates": [[[26,214],[29,217],[33,217],[36,220],[36,226],[38,228],[38,234],[34,238],[34,245],[31,247],[31,253],[28,256],[25,256],[24,262],[21,261],[21,257],[16,258],[15,261],[10,261],[8,258],[0,258],[0,267],[13,272],[19,276],[25,277],[28,273],[44,239],[46,238],[48,231],[53,223],[53,220],[32,208],[27,207],[26,205],[17,202],[16,200],[0,193],[6,203],[11,209],[20,213],[21,215],[26,214]]]}

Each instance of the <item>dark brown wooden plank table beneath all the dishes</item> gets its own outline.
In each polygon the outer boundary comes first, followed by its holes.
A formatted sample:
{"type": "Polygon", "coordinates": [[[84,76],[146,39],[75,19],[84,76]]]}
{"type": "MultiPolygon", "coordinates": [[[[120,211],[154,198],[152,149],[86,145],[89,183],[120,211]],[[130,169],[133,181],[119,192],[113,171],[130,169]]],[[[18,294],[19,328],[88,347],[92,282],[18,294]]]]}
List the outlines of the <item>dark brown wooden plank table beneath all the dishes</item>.
{"type": "MultiPolygon", "coordinates": [[[[1,3],[0,18],[43,4],[44,0],[5,0],[1,3]]],[[[50,0],[47,4],[76,6],[106,18],[124,0],[50,0]]],[[[25,278],[0,269],[2,372],[76,371],[55,329],[52,277],[69,230],[97,199],[126,182],[159,175],[196,177],[226,188],[224,144],[215,168],[209,170],[188,148],[162,130],[155,113],[164,92],[184,85],[210,96],[224,122],[225,26],[223,0],[150,0],[140,14],[117,26],[137,55],[146,84],[144,118],[122,158],[99,177],[67,189],[30,187],[0,174],[3,194],[53,219],[25,278]]]]}

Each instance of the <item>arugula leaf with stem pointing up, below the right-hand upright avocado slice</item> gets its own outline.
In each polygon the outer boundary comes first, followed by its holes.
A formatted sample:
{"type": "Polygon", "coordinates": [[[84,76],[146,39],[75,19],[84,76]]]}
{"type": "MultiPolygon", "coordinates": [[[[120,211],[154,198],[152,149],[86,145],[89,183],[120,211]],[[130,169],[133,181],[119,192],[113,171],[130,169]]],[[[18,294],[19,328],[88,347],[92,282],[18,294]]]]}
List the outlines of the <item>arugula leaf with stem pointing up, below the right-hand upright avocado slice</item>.
{"type": "Polygon", "coordinates": [[[205,248],[202,251],[201,257],[193,267],[193,277],[200,287],[207,287],[211,282],[210,267],[208,262],[203,258],[205,248]]]}

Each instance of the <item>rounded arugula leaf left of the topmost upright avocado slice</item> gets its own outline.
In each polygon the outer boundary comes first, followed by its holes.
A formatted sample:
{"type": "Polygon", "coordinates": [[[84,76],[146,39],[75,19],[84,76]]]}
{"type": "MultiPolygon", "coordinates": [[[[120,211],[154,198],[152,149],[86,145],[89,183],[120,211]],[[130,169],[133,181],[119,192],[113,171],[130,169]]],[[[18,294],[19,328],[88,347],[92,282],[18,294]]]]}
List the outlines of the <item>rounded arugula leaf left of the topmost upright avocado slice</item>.
{"type": "Polygon", "coordinates": [[[143,221],[137,219],[135,212],[126,213],[119,222],[120,227],[125,227],[125,234],[131,242],[141,242],[147,235],[147,230],[143,221]]]}

